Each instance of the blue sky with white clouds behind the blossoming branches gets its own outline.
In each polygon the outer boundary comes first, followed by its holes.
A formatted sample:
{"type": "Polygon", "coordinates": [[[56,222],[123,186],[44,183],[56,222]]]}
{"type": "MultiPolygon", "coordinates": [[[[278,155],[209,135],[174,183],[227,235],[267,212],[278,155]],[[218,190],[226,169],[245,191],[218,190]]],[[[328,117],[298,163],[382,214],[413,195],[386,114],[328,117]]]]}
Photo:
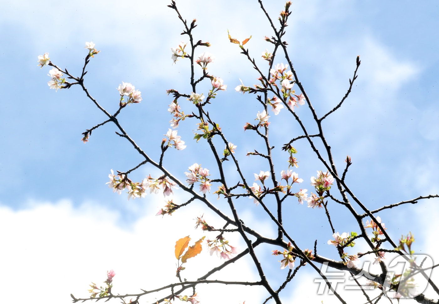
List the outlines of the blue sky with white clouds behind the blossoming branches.
{"type": "MultiPolygon", "coordinates": [[[[109,112],[117,110],[116,87],[122,81],[131,82],[142,91],[142,103],[126,107],[119,119],[137,144],[156,159],[171,119],[166,110],[172,98],[166,90],[190,93],[187,61],[179,60],[173,65],[170,58],[170,47],[176,47],[182,39],[186,41],[180,35],[181,22],[166,7],[167,1],[146,4],[127,0],[123,5],[118,1],[43,5],[26,0],[3,2],[0,78],[6,94],[0,102],[0,172],[4,177],[0,185],[0,240],[5,250],[0,253],[0,260],[5,263],[0,268],[0,286],[9,290],[2,295],[4,301],[20,298],[37,304],[64,303],[72,292],[84,297],[87,284],[104,280],[109,269],[115,269],[115,286],[120,293],[126,292],[124,288],[135,292],[148,289],[148,284],[169,281],[175,271],[175,240],[187,234],[198,235],[193,230],[192,219],[196,216],[205,213],[211,216],[212,223],[215,219],[201,204],[162,219],[155,217],[164,205],[160,195],[127,201],[126,195],[113,194],[105,185],[110,169],[128,170],[142,159],[114,134],[115,128],[110,125],[94,131],[84,145],[81,133],[100,123],[104,116],[78,87],[50,90],[46,75],[50,69],[37,67],[37,56],[49,52],[54,64],[77,75],[86,56],[85,42],[95,42],[101,53],[88,66],[86,87],[109,112]],[[157,248],[161,248],[159,253],[157,248]],[[23,288],[29,290],[25,295],[23,288]]],[[[270,1],[267,9],[276,18],[283,5],[284,1],[270,1]]],[[[252,35],[246,46],[259,66],[265,68],[260,54],[270,49],[270,44],[263,41],[263,36],[272,35],[269,24],[257,1],[218,5],[187,0],[177,1],[177,6],[187,20],[197,19],[196,39],[212,44],[208,51],[216,56],[216,61],[209,65],[209,73],[223,78],[228,89],[219,93],[209,111],[215,113],[228,140],[238,146],[240,164],[251,180],[252,173],[268,168],[258,159],[245,157],[260,143],[250,132],[244,133],[242,126],[252,122],[262,109],[253,95],[243,96],[233,88],[240,84],[240,78],[245,85],[255,84],[257,75],[239,48],[228,42],[227,29],[240,40],[252,35]]],[[[291,11],[285,40],[299,79],[320,115],[345,94],[355,58],[360,55],[353,92],[324,123],[324,133],[339,168],[346,155],[352,157],[347,182],[357,197],[374,209],[419,195],[438,194],[436,2],[414,5],[409,1],[297,1],[291,11]]],[[[200,49],[199,53],[203,51],[200,49]]],[[[203,88],[207,90],[207,86],[201,86],[199,92],[203,88]]],[[[190,109],[189,104],[187,110],[183,108],[185,112],[190,109]]],[[[305,108],[297,113],[311,126],[305,108]]],[[[286,111],[270,116],[279,174],[287,169],[281,145],[300,133],[286,111]]],[[[191,122],[179,128],[187,149],[170,151],[165,159],[165,164],[182,180],[184,171],[195,162],[215,173],[209,166],[207,147],[202,141],[197,144],[191,139],[195,128],[191,122]]],[[[300,166],[295,171],[305,180],[301,187],[310,191],[309,178],[323,167],[304,143],[298,143],[296,148],[300,166]]],[[[140,180],[150,173],[159,174],[143,166],[132,177],[140,180]]],[[[231,167],[227,174],[237,178],[231,167]]],[[[176,194],[179,198],[184,197],[176,194]]],[[[216,201],[214,196],[212,201],[216,201]]],[[[251,200],[241,202],[245,223],[255,223],[256,230],[273,233],[273,226],[251,200]]],[[[434,257],[437,245],[428,242],[432,237],[428,231],[439,228],[435,221],[437,203],[437,199],[421,201],[379,215],[392,237],[412,231],[415,250],[434,257]]],[[[313,240],[318,239],[320,252],[336,258],[330,250],[333,248],[326,247],[331,233],[321,210],[308,209],[296,201],[288,208],[291,214],[286,218],[293,223],[291,227],[301,227],[295,238],[302,247],[313,247],[313,240]]],[[[352,221],[343,219],[341,210],[333,212],[337,231],[354,229],[352,221]]],[[[231,239],[243,246],[237,238],[231,239]]],[[[274,249],[277,248],[264,247],[265,253],[261,249],[267,263],[274,261],[273,270],[268,272],[273,279],[281,273],[276,258],[270,256],[274,249]]],[[[212,263],[209,258],[201,257],[200,263],[208,267],[212,263]]],[[[193,265],[196,267],[196,263],[193,265]]],[[[189,268],[188,276],[196,276],[197,272],[189,268]]],[[[255,275],[245,262],[236,265],[233,276],[238,273],[255,275]]],[[[222,274],[227,275],[230,273],[222,274]]],[[[322,299],[314,295],[315,277],[313,272],[303,271],[298,283],[284,292],[284,299],[320,302],[322,299]],[[304,288],[310,293],[299,292],[304,288]]],[[[265,297],[260,290],[232,290],[230,295],[233,303],[246,300],[247,304],[260,303],[258,299],[265,297]]],[[[208,291],[204,298],[209,303],[219,300],[212,299],[208,291]]],[[[324,303],[332,301],[335,299],[324,297],[324,303]]]]}

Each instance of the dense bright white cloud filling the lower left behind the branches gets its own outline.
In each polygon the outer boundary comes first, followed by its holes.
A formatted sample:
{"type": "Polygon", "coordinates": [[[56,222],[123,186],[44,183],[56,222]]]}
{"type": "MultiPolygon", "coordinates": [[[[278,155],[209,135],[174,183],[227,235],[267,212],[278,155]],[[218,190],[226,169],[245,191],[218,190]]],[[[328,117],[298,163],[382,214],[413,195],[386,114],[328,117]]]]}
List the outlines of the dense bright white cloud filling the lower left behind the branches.
{"type": "MultiPolygon", "coordinates": [[[[186,235],[197,240],[203,235],[201,230],[194,230],[194,209],[179,210],[164,218],[155,216],[156,209],[148,209],[145,216],[121,228],[117,212],[96,205],[75,209],[68,200],[55,204],[34,201],[28,209],[19,211],[0,207],[0,230],[7,231],[0,240],[0,285],[7,290],[3,301],[19,298],[23,303],[69,303],[70,293],[88,297],[88,284],[93,281],[99,286],[110,269],[116,272],[114,293],[138,293],[140,288],[151,290],[176,282],[175,241],[186,235]]],[[[230,236],[230,244],[243,247],[234,236],[230,236]]],[[[205,251],[188,260],[182,277],[196,279],[220,262],[205,251]]],[[[257,280],[251,263],[245,260],[211,278],[257,280]]],[[[197,290],[209,303],[223,303],[224,295],[251,303],[263,294],[257,287],[221,286],[220,293],[218,288],[209,284],[197,290]]]]}

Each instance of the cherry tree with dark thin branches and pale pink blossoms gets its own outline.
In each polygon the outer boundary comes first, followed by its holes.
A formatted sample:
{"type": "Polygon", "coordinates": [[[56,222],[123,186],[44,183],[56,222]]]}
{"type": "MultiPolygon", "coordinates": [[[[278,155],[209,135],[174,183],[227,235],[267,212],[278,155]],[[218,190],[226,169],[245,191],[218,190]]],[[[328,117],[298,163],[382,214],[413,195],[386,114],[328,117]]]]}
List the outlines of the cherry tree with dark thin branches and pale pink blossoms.
{"type": "MultiPolygon", "coordinates": [[[[354,287],[358,287],[362,297],[356,303],[377,303],[385,297],[396,298],[398,301],[400,298],[413,298],[418,303],[438,303],[437,300],[425,297],[423,289],[417,288],[425,289],[429,285],[439,295],[438,287],[429,279],[434,267],[430,263],[431,258],[415,255],[414,236],[410,233],[409,227],[404,227],[408,229],[405,235],[393,239],[387,231],[392,228],[385,226],[379,214],[385,209],[415,204],[422,199],[438,198],[439,195],[431,194],[406,201],[392,201],[378,209],[370,209],[367,203],[356,197],[352,186],[347,182],[349,167],[353,164],[355,156],[352,156],[353,159],[351,156],[345,156],[343,160],[334,159],[331,145],[324,136],[324,121],[343,106],[353,89],[360,69],[360,57],[353,60],[353,74],[349,79],[345,95],[341,96],[340,101],[331,110],[322,113],[320,109],[314,108],[312,100],[299,81],[298,72],[293,68],[291,61],[288,42],[284,41],[288,18],[291,16],[291,2],[285,4],[276,18],[272,18],[266,12],[262,0],[258,2],[272,30],[271,34],[263,37],[267,42],[267,49],[262,50],[262,55],[259,55],[261,50],[254,51],[257,56],[265,60],[266,65],[262,67],[256,64],[253,50],[247,48],[252,36],[241,39],[229,32],[230,43],[236,45],[236,51],[242,54],[248,67],[258,75],[254,84],[244,84],[241,81],[236,87],[235,84],[225,84],[221,75],[215,74],[213,67],[216,58],[206,50],[210,43],[197,38],[196,20],[188,22],[186,17],[180,14],[175,1],[171,1],[168,5],[180,19],[184,37],[183,42],[176,42],[170,49],[170,57],[173,64],[190,66],[190,90],[184,92],[176,87],[166,88],[168,97],[165,95],[164,99],[169,100],[169,107],[168,113],[163,115],[164,117],[168,115],[171,119],[169,129],[163,131],[165,134],[162,142],[157,143],[161,153],[156,159],[148,152],[149,147],[137,145],[135,136],[125,131],[123,121],[118,117],[119,113],[126,110],[126,106],[139,106],[134,104],[144,102],[139,90],[141,85],[121,81],[116,88],[119,103],[115,111],[104,109],[86,87],[86,69],[100,52],[93,42],[86,42],[87,54],[79,76],[52,62],[48,53],[38,57],[41,67],[52,67],[49,71],[50,88],[55,91],[58,89],[65,91],[79,86],[86,98],[90,99],[107,117],[106,120],[83,132],[84,143],[93,139],[91,135],[94,130],[111,123],[117,128],[117,136],[128,141],[133,147],[133,153],[142,157],[143,161],[133,165],[132,168],[110,171],[107,184],[112,191],[127,194],[128,199],[147,200],[149,194],[162,194],[166,203],[158,210],[157,216],[172,216],[174,212],[179,212],[179,209],[199,201],[215,213],[222,223],[214,226],[208,218],[196,216],[194,225],[203,230],[205,235],[198,240],[192,240],[191,236],[182,236],[173,240],[176,279],[170,279],[168,285],[154,290],[142,289],[135,294],[115,294],[112,292],[112,284],[117,271],[109,269],[104,286],[90,284],[88,297],[72,294],[74,303],[100,299],[119,300],[122,303],[144,303],[144,296],[155,294],[159,295],[156,303],[184,301],[194,304],[199,303],[197,288],[203,284],[259,286],[266,290],[266,298],[261,299],[261,303],[281,303],[282,291],[294,284],[297,272],[304,268],[316,271],[317,283],[322,283],[320,285],[322,290],[327,286],[329,292],[333,293],[340,302],[347,303],[349,299],[335,289],[337,281],[328,277],[330,276],[328,273],[331,272],[322,270],[327,267],[338,270],[342,274],[351,274],[356,284],[354,287]],[[228,139],[229,131],[224,131],[224,126],[217,123],[219,117],[216,116],[212,104],[220,102],[221,94],[227,89],[254,96],[255,104],[259,109],[254,113],[254,120],[246,122],[239,130],[231,131],[242,132],[243,138],[248,138],[249,143],[255,142],[258,148],[252,151],[240,151],[240,147],[228,139]],[[299,108],[305,108],[308,112],[306,115],[311,118],[299,116],[296,113],[299,108]],[[269,131],[275,130],[281,123],[277,120],[277,115],[281,112],[288,113],[295,123],[295,129],[285,134],[284,138],[288,137],[286,141],[273,145],[269,131]],[[181,133],[178,133],[180,128],[195,128],[194,140],[182,138],[181,133]],[[316,170],[314,176],[299,176],[300,153],[295,148],[298,142],[309,145],[316,157],[317,161],[313,164],[316,170]],[[178,158],[180,150],[184,150],[187,145],[207,147],[210,152],[210,162],[203,165],[188,164],[185,172],[178,172],[166,166],[166,158],[178,158]],[[279,155],[281,157],[278,157],[279,155]],[[251,174],[240,165],[240,159],[243,157],[255,159],[257,166],[253,168],[251,174]],[[142,166],[154,167],[161,174],[157,176],[150,174],[140,181],[133,180],[130,177],[131,173],[142,166]],[[228,174],[232,168],[237,175],[228,174]],[[184,192],[189,198],[185,201],[177,201],[173,196],[177,192],[184,192]],[[247,211],[262,210],[276,227],[277,235],[274,237],[265,235],[258,230],[258,227],[248,226],[242,220],[241,207],[237,208],[238,204],[243,203],[247,203],[247,211]],[[226,207],[219,208],[219,204],[226,207]],[[308,247],[304,247],[302,244],[305,242],[299,244],[296,241],[300,231],[313,227],[315,223],[313,219],[309,219],[309,227],[298,227],[288,223],[285,214],[291,210],[293,204],[296,205],[295,208],[310,208],[314,209],[314,212],[324,213],[326,218],[324,227],[332,235],[326,244],[318,244],[317,240],[309,239],[306,241],[308,247]],[[352,225],[349,232],[340,232],[338,223],[333,220],[334,213],[340,210],[350,217],[349,223],[352,225]],[[236,234],[244,241],[245,247],[237,247],[229,241],[230,235],[236,234]],[[359,243],[368,247],[366,252],[356,251],[359,243]],[[318,253],[320,247],[328,245],[334,245],[332,248],[338,259],[318,253]],[[271,254],[271,262],[267,262],[266,258],[258,253],[256,248],[259,246],[271,254]],[[202,250],[208,250],[212,259],[222,259],[222,264],[206,269],[204,275],[198,278],[187,278],[184,271],[187,260],[195,261],[202,250]],[[257,269],[259,279],[237,281],[233,276],[230,276],[228,281],[215,279],[217,272],[227,269],[243,258],[247,258],[257,269]],[[279,274],[275,279],[267,276],[267,271],[272,271],[273,261],[278,263],[279,268],[279,274]],[[403,272],[395,273],[391,271],[393,261],[405,262],[407,267],[403,272]],[[379,265],[380,271],[370,271],[365,267],[366,262],[379,265]],[[367,278],[367,281],[364,278],[367,278]],[[379,293],[371,296],[368,289],[379,290],[379,293]]],[[[237,99],[241,97],[238,94],[236,96],[237,99]]],[[[226,103],[224,107],[234,110],[226,103]]],[[[234,302],[233,299],[227,301],[234,302]]]]}

